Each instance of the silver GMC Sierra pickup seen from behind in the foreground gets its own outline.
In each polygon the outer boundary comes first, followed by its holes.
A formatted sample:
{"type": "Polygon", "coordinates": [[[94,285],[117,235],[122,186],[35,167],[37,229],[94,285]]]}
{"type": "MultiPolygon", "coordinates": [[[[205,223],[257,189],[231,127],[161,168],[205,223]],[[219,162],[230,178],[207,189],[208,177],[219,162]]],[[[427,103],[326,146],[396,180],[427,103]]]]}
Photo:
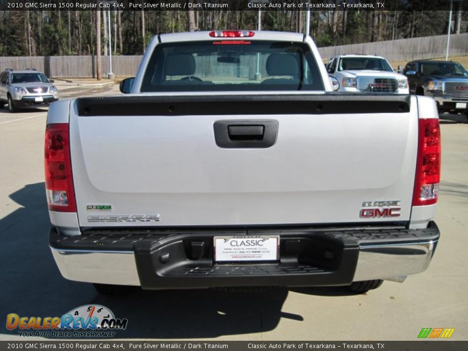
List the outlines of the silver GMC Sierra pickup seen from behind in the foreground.
{"type": "Polygon", "coordinates": [[[158,35],[121,83],[130,94],[52,104],[60,273],[102,293],[365,292],[425,271],[439,239],[435,103],[335,93],[321,62],[297,33],[158,35]]]}

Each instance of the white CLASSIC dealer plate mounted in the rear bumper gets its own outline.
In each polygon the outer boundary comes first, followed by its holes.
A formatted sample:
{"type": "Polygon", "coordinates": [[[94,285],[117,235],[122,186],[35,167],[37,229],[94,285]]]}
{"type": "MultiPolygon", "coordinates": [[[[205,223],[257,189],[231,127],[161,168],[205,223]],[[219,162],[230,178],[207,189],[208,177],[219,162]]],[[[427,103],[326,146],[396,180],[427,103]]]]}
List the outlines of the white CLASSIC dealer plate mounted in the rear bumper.
{"type": "Polygon", "coordinates": [[[215,262],[273,262],[279,259],[279,235],[215,236],[215,262]]]}

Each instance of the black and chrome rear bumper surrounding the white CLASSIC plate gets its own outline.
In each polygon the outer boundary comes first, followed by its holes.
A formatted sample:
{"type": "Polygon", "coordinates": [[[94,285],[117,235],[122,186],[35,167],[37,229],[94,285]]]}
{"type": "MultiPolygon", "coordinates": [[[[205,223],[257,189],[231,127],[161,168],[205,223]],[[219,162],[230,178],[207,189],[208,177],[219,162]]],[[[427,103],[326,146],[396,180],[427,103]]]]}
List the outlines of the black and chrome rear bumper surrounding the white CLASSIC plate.
{"type": "Polygon", "coordinates": [[[51,228],[49,237],[54,259],[67,279],[177,289],[332,286],[395,279],[425,271],[440,235],[434,222],[417,230],[249,230],[248,235],[280,235],[278,263],[213,264],[214,235],[245,234],[236,230],[99,231],[61,236],[51,228]]]}

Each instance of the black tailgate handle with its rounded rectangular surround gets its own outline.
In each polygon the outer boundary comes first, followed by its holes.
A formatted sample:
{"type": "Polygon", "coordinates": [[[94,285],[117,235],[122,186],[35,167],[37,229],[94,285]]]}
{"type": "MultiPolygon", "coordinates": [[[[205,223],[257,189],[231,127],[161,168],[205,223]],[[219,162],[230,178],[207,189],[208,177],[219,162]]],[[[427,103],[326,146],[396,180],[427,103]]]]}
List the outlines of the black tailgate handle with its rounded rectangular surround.
{"type": "Polygon", "coordinates": [[[222,119],[213,124],[216,145],[223,149],[265,149],[278,136],[275,119],[222,119]]]}

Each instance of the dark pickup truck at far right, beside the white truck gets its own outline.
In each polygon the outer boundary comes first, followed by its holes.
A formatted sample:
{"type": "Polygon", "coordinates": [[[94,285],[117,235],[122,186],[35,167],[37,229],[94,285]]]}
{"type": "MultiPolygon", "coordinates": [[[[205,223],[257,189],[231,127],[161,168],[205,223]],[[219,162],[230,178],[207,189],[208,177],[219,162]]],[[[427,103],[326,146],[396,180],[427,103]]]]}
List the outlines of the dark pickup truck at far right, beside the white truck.
{"type": "Polygon", "coordinates": [[[467,112],[468,72],[451,61],[411,61],[403,71],[409,92],[435,99],[439,113],[467,112]]]}

